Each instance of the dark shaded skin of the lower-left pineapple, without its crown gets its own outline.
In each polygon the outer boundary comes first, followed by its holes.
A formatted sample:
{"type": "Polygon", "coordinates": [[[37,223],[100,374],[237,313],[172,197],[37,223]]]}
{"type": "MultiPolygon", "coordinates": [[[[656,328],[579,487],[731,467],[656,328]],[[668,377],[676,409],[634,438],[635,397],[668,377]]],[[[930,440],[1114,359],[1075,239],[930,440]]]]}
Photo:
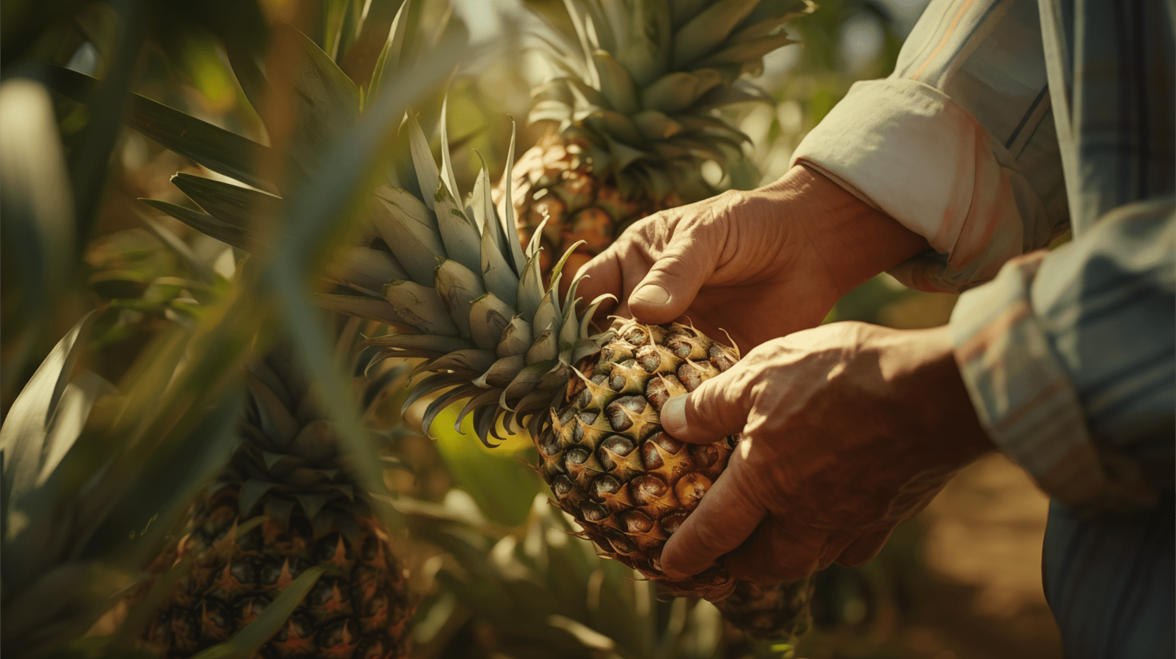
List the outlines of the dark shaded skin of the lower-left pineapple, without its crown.
{"type": "Polygon", "coordinates": [[[227,640],[253,621],[306,568],[327,571],[258,657],[393,659],[409,652],[413,606],[406,579],[379,526],[358,520],[356,541],[330,530],[315,533],[307,518],[262,521],[245,533],[238,488],[226,487],[198,506],[191,531],[151,566],[162,573],[189,559],[147,625],[143,645],[183,658],[227,640]]]}

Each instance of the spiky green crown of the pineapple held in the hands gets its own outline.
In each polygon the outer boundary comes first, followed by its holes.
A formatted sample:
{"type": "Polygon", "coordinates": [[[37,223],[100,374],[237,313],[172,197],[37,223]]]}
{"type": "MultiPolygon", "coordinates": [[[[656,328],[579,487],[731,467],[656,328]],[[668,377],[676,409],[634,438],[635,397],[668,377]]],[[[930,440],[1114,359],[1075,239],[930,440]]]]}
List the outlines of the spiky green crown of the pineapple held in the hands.
{"type": "MultiPolygon", "coordinates": [[[[392,186],[374,193],[367,232],[368,246],[350,248],[330,278],[339,286],[322,293],[322,306],[380,320],[400,333],[372,338],[379,348],[372,364],[388,358],[423,359],[413,375],[433,372],[414,382],[407,408],[441,392],[425,412],[428,432],[436,415],[466,400],[457,424],[470,413],[483,442],[501,439],[506,427],[547,410],[564,395],[576,377],[574,365],[600,352],[589,321],[610,295],[594,300],[583,314],[576,278],[561,297],[568,249],[543,286],[537,232],[526,251],[514,239],[510,168],[503,173],[500,205],[490,199],[490,181],[482,166],[466,204],[456,201],[456,184],[448,151],[436,166],[428,141],[412,113],[407,118],[413,165],[421,189],[419,199],[392,186]]],[[[441,144],[445,134],[442,106],[441,144]]],[[[508,160],[514,159],[512,135],[508,160]]]]}

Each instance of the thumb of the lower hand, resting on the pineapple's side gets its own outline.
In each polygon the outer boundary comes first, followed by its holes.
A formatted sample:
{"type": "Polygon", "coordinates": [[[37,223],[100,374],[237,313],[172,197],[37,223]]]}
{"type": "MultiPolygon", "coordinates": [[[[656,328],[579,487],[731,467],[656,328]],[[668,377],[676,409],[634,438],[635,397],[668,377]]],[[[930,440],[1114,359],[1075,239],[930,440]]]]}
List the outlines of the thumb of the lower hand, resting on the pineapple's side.
{"type": "Polygon", "coordinates": [[[667,400],[661,411],[662,428],[690,444],[713,444],[741,432],[755,405],[750,386],[755,374],[748,362],[736,361],[693,392],[667,400]]]}

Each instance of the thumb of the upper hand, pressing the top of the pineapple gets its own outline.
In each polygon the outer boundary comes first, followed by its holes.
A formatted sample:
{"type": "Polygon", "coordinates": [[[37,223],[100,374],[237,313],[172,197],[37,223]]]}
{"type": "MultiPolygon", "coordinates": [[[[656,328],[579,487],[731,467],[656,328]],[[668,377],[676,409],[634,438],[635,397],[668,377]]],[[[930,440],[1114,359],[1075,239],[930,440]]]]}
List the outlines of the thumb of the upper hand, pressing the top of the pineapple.
{"type": "Polygon", "coordinates": [[[719,249],[690,233],[675,235],[629,295],[633,317],[648,325],[677,319],[715,272],[719,249]]]}

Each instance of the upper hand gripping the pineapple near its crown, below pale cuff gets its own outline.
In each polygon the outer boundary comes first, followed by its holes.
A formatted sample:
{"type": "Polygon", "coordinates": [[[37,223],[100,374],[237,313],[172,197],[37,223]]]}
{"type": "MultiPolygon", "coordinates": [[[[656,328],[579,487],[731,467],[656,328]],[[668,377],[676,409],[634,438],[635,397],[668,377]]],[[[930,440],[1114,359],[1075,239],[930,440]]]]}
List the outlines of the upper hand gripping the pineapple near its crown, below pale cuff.
{"type": "MultiPolygon", "coordinates": [[[[813,327],[844,293],[927,241],[820,172],[662,211],[634,224],[581,272],[586,300],[647,324],[686,317],[743,350],[813,327]]],[[[684,320],[683,320],[684,321],[684,320]]]]}

